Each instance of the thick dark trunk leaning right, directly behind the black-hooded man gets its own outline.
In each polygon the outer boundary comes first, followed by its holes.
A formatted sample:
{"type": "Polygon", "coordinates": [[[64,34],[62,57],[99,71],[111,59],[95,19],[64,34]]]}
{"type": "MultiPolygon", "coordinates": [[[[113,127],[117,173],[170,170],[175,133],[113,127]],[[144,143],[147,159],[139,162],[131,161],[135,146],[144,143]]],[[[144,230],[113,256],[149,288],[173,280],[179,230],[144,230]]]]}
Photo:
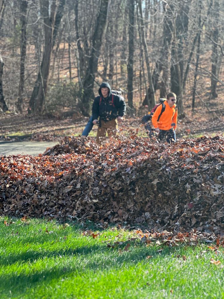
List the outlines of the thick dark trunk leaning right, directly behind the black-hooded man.
{"type": "Polygon", "coordinates": [[[83,95],[81,111],[83,115],[89,116],[92,101],[94,98],[93,86],[95,75],[97,72],[98,59],[100,54],[102,36],[104,33],[107,19],[108,0],[102,0],[97,16],[96,25],[92,38],[92,50],[89,58],[88,69],[86,70],[85,79],[83,82],[83,95]]]}

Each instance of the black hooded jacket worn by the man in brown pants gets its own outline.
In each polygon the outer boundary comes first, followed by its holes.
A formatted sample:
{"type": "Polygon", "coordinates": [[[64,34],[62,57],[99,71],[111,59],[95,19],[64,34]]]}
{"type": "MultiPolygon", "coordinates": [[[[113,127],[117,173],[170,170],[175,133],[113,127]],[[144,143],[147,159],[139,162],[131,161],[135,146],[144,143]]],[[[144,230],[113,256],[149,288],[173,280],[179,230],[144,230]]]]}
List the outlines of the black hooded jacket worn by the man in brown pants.
{"type": "Polygon", "coordinates": [[[93,102],[92,114],[93,120],[100,117],[104,121],[109,121],[123,116],[126,111],[126,104],[124,98],[119,97],[116,94],[112,94],[111,86],[107,82],[103,82],[99,88],[99,96],[97,96],[93,102]],[[101,88],[107,87],[109,94],[107,98],[104,98],[101,93],[101,88]]]}

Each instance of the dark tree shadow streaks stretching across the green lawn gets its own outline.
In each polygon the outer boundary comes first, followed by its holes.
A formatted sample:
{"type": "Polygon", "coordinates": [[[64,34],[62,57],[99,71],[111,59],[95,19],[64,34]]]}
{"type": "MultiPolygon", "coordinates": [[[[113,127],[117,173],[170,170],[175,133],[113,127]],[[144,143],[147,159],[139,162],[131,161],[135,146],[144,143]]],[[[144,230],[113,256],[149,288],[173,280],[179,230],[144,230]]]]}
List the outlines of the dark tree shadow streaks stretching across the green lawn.
{"type": "MultiPolygon", "coordinates": [[[[169,252],[170,251],[167,250],[163,255],[166,256],[169,252]]],[[[20,270],[19,273],[13,272],[0,275],[1,281],[4,281],[4,285],[0,288],[0,295],[7,295],[10,289],[13,296],[21,296],[25,294],[29,288],[35,289],[42,284],[49,284],[52,280],[69,277],[71,274],[83,276],[89,271],[102,271],[102,269],[106,269],[107,271],[114,269],[114,271],[116,271],[120,267],[123,267],[124,263],[126,267],[128,265],[134,266],[140,261],[146,260],[148,255],[152,256],[151,260],[159,255],[154,248],[147,248],[145,246],[139,247],[135,251],[120,254],[118,248],[107,248],[106,245],[94,245],[89,248],[83,246],[76,250],[52,251],[45,255],[33,253],[30,255],[30,259],[27,259],[27,254],[24,254],[25,256],[15,255],[14,260],[24,260],[25,257],[26,260],[34,261],[37,258],[59,257],[59,254],[61,255],[60,258],[62,258],[62,262],[60,262],[60,259],[57,260],[53,267],[47,265],[45,269],[33,269],[32,271],[28,271],[28,273],[27,270],[20,270]],[[102,257],[95,255],[99,253],[99,248],[101,249],[102,257]],[[82,260],[79,259],[80,254],[83,254],[82,260]],[[66,257],[67,261],[63,261],[63,257],[66,257]],[[72,260],[73,258],[74,260],[72,260]]],[[[30,265],[30,267],[32,266],[30,265]]]]}

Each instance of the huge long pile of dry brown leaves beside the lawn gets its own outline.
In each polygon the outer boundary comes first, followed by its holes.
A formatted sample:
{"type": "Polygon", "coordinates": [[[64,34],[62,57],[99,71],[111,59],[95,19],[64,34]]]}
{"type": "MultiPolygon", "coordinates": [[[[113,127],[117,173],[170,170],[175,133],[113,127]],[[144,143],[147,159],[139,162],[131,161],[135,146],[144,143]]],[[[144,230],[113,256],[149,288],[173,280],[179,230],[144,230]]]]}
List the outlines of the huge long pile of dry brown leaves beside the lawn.
{"type": "Polygon", "coordinates": [[[53,155],[0,158],[1,215],[146,223],[163,231],[224,229],[219,137],[171,145],[136,138],[104,149],[79,137],[47,153],[53,155]]]}

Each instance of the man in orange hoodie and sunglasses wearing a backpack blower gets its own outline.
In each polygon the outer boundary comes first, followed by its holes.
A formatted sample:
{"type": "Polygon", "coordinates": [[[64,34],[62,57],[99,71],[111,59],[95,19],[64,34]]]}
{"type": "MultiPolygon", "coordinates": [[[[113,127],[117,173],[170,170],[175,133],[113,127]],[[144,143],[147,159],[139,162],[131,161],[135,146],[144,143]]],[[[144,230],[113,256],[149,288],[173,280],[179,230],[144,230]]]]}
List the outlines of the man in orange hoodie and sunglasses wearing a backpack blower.
{"type": "Polygon", "coordinates": [[[160,104],[152,116],[152,124],[159,133],[159,140],[164,137],[168,143],[176,141],[177,128],[177,96],[174,92],[167,94],[166,101],[160,104]]]}

